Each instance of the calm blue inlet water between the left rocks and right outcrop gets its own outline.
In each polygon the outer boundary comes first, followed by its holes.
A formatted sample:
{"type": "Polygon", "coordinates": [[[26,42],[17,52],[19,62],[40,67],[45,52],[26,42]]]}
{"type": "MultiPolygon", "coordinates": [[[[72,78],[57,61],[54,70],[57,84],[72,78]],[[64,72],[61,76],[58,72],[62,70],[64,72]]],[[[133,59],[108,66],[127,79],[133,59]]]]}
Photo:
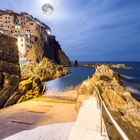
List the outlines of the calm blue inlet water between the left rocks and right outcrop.
{"type": "Polygon", "coordinates": [[[95,73],[94,68],[71,67],[69,69],[71,71],[70,75],[46,82],[47,90],[64,91],[73,89],[95,73]]]}

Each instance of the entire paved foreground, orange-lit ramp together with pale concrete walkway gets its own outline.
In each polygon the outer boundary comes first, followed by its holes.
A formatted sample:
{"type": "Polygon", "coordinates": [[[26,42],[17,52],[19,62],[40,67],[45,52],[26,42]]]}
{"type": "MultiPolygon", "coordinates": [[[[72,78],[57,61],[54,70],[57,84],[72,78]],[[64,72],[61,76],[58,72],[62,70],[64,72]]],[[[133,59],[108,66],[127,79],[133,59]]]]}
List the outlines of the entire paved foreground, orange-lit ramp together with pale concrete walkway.
{"type": "Polygon", "coordinates": [[[108,140],[106,133],[100,135],[101,112],[95,97],[84,101],[77,120],[74,108],[74,104],[27,101],[0,110],[0,139],[108,140]]]}

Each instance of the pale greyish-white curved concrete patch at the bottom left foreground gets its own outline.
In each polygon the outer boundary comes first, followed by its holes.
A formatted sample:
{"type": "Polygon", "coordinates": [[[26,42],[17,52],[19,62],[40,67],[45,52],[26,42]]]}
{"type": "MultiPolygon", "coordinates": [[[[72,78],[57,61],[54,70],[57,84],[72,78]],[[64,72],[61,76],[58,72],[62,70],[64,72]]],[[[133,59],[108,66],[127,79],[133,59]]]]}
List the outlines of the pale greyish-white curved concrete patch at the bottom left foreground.
{"type": "Polygon", "coordinates": [[[23,131],[4,140],[68,140],[73,123],[41,126],[23,131]]]}

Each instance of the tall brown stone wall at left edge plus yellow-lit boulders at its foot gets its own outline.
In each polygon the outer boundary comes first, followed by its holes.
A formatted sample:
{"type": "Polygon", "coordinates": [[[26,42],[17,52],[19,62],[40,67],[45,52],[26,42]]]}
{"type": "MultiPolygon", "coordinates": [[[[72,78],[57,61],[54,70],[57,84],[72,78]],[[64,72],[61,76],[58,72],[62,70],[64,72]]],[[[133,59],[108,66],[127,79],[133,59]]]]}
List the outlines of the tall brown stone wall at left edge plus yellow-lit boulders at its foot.
{"type": "Polygon", "coordinates": [[[45,85],[38,76],[20,76],[17,39],[0,34],[0,108],[38,97],[45,85]]]}

